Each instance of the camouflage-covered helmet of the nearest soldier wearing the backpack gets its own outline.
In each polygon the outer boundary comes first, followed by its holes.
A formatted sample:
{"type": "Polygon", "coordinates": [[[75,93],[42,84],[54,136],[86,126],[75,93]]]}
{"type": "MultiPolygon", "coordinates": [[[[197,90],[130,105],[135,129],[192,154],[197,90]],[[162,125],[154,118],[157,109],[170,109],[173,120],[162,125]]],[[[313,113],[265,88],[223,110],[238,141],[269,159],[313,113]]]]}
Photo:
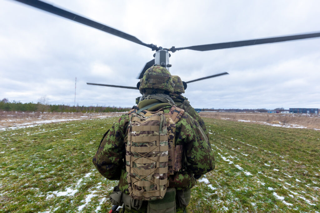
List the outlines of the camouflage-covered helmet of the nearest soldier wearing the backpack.
{"type": "Polygon", "coordinates": [[[138,82],[140,93],[143,95],[146,89],[163,90],[173,93],[174,83],[170,72],[159,65],[150,67],[138,82]]]}

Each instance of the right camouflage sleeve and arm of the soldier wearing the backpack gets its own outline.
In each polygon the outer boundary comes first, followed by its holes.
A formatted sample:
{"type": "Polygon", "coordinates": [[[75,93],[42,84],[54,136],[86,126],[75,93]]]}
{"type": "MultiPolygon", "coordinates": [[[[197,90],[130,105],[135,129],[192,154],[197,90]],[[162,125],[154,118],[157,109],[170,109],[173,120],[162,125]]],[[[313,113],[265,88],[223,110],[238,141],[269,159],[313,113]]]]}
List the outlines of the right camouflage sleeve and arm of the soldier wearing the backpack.
{"type": "Polygon", "coordinates": [[[185,113],[177,123],[176,136],[178,143],[184,145],[186,170],[196,175],[203,175],[214,169],[214,156],[198,126],[199,124],[185,113]]]}

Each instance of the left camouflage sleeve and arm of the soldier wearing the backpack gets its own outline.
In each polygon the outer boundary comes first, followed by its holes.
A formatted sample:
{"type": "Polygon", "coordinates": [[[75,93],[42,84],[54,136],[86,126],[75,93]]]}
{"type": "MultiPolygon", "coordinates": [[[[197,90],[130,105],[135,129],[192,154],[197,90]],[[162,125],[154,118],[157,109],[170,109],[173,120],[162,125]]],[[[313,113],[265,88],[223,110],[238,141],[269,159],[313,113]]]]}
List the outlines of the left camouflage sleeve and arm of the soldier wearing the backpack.
{"type": "Polygon", "coordinates": [[[123,115],[118,122],[113,124],[93,157],[93,164],[107,179],[116,180],[120,178],[121,169],[124,165],[124,138],[128,122],[128,116],[123,115]]]}

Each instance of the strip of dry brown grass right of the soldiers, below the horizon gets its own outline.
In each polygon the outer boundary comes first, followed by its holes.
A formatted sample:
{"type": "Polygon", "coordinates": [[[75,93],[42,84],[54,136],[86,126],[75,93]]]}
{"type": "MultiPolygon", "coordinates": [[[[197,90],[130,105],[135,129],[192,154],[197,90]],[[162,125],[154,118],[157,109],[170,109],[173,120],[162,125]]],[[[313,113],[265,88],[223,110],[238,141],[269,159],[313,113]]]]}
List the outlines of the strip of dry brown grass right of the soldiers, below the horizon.
{"type": "Polygon", "coordinates": [[[232,121],[251,121],[260,124],[282,126],[299,125],[308,129],[320,129],[319,114],[274,114],[274,113],[243,113],[243,112],[200,112],[201,117],[228,119],[232,121]],[[263,123],[265,122],[265,123],[263,123]]]}

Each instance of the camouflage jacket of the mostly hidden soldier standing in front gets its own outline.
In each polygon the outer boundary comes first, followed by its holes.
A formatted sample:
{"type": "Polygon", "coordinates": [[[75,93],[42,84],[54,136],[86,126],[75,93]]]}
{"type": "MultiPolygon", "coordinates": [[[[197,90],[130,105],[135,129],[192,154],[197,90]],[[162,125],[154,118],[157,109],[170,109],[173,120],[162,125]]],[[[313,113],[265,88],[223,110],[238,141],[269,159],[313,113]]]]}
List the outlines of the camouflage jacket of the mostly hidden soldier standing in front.
{"type": "MultiPolygon", "coordinates": [[[[186,98],[176,93],[170,93],[170,97],[178,107],[184,109],[185,112],[187,112],[192,118],[194,118],[198,122],[199,126],[203,129],[205,135],[209,139],[209,133],[207,131],[207,128],[205,127],[204,121],[202,120],[200,115],[196,112],[196,110],[186,100],[186,98]]],[[[209,143],[209,146],[210,146],[210,143],[209,143]]]]}

